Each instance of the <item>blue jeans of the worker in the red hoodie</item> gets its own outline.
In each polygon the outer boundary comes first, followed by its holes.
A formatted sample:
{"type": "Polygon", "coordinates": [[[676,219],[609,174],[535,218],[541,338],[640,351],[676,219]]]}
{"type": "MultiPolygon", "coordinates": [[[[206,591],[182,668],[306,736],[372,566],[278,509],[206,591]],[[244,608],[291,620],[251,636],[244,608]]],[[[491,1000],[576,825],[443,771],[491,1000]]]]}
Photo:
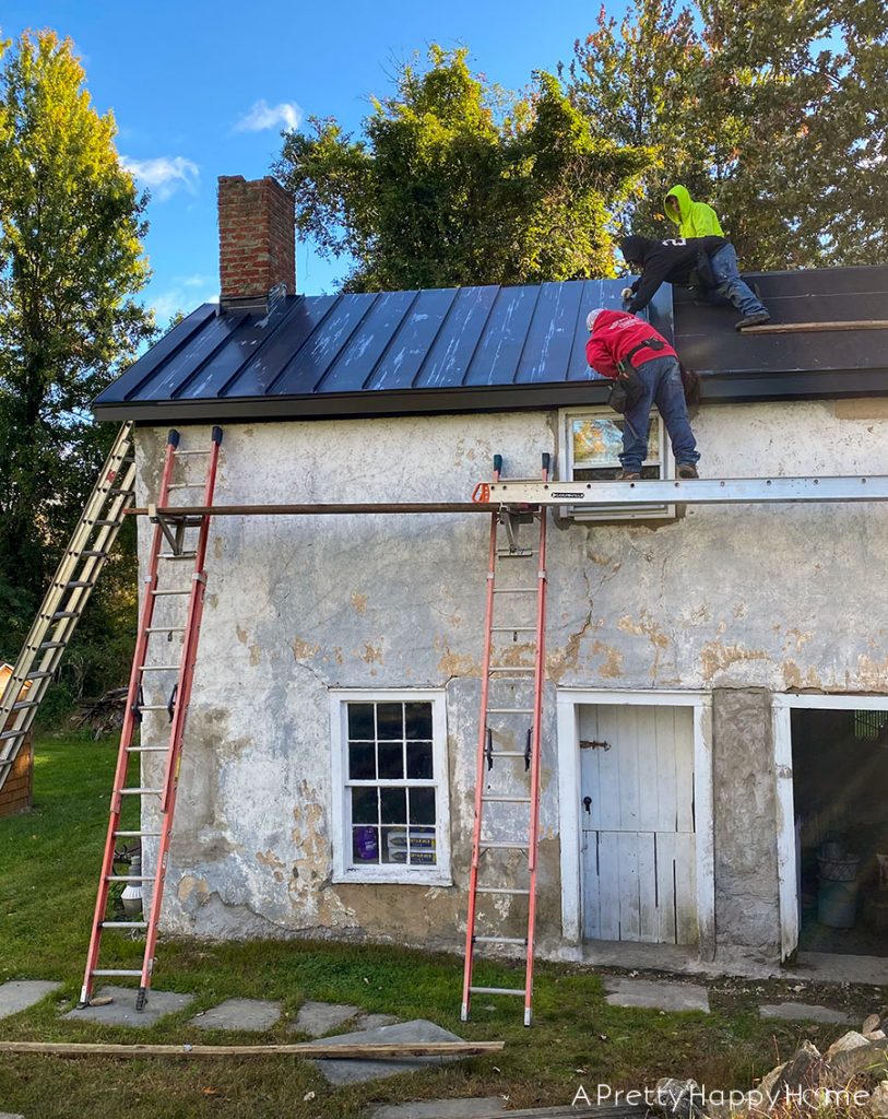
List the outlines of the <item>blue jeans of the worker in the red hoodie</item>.
{"type": "Polygon", "coordinates": [[[648,427],[653,404],[663,417],[676,462],[699,462],[678,361],[673,357],[656,357],[640,365],[635,373],[643,391],[639,402],[626,412],[620,455],[623,469],[627,473],[641,473],[641,464],[648,457],[648,427]]]}

